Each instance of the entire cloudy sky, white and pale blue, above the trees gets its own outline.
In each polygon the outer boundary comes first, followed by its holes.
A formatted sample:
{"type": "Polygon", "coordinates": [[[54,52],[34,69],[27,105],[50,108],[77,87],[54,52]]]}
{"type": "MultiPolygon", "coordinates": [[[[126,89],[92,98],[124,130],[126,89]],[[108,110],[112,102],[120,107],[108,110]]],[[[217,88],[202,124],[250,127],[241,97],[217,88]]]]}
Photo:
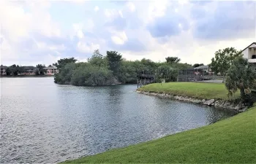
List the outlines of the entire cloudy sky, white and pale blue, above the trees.
{"type": "Polygon", "coordinates": [[[94,50],[127,60],[211,62],[256,42],[255,1],[0,1],[1,64],[86,61],[94,50]]]}

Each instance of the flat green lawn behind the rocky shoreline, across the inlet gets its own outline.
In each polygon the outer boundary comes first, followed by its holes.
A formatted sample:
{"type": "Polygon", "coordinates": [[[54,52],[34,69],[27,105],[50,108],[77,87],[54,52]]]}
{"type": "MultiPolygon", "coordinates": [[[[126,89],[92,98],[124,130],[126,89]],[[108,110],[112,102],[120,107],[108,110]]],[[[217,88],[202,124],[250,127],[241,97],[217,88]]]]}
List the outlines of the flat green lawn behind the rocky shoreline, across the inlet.
{"type": "Polygon", "coordinates": [[[240,93],[228,98],[227,89],[224,84],[203,82],[167,82],[154,83],[140,87],[139,90],[171,93],[174,95],[187,95],[192,98],[233,100],[239,98],[240,93]]]}

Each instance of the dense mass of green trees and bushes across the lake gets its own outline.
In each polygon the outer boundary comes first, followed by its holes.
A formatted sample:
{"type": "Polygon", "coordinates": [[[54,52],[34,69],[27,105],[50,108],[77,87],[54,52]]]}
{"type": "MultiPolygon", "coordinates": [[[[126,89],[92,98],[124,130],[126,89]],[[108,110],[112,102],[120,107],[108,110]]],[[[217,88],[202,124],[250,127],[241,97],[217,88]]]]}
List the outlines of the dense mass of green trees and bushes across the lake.
{"type": "Polygon", "coordinates": [[[95,50],[88,62],[77,63],[75,58],[58,60],[54,66],[59,69],[55,76],[58,84],[71,85],[110,85],[117,83],[135,83],[138,71],[149,71],[155,75],[157,82],[165,78],[166,82],[177,80],[178,69],[192,68],[192,65],[180,63],[177,57],[167,57],[165,62],[126,60],[116,51],[107,51],[102,55],[95,50]]]}

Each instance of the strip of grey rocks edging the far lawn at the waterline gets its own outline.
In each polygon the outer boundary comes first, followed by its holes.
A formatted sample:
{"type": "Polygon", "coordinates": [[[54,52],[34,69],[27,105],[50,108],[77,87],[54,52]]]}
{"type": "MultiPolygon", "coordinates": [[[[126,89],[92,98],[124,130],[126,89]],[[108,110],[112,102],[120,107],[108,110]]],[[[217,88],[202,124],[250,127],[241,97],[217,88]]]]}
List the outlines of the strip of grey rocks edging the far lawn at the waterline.
{"type": "Polygon", "coordinates": [[[228,109],[233,112],[245,112],[246,109],[248,109],[247,106],[242,104],[241,102],[235,103],[235,102],[230,102],[230,101],[223,101],[223,100],[214,100],[214,99],[197,99],[197,98],[189,98],[188,96],[183,96],[183,95],[172,95],[169,93],[154,93],[154,92],[149,92],[149,91],[141,91],[137,90],[137,93],[141,93],[144,95],[154,95],[154,96],[159,96],[162,98],[172,98],[178,101],[186,101],[190,102],[193,104],[203,104],[207,106],[215,106],[218,108],[222,109],[228,109]]]}

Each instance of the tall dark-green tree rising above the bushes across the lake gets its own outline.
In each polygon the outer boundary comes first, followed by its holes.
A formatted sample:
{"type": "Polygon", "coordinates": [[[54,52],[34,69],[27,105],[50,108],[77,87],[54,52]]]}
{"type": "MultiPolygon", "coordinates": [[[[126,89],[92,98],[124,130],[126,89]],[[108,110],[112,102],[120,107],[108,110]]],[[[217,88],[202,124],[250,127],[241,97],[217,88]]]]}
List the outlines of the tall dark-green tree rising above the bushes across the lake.
{"type": "Polygon", "coordinates": [[[116,51],[107,51],[107,59],[110,70],[113,71],[114,76],[118,77],[121,54],[116,51]]]}

